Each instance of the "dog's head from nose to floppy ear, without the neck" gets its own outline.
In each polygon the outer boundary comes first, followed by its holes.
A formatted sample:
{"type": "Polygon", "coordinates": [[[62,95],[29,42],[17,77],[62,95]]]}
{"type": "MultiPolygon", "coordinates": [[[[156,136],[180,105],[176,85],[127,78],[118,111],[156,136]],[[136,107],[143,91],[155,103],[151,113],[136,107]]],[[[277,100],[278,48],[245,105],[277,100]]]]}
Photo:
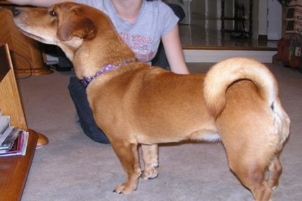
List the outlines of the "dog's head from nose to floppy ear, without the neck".
{"type": "Polygon", "coordinates": [[[92,39],[96,26],[85,8],[71,2],[50,8],[13,8],[14,22],[22,33],[43,43],[92,39]]]}

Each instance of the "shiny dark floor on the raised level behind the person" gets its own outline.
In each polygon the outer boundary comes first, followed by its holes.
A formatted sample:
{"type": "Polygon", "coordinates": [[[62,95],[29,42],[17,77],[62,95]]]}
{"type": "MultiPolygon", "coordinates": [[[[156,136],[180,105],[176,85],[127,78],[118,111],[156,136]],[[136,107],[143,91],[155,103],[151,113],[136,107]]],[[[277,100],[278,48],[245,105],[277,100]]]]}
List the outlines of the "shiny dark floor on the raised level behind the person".
{"type": "Polygon", "coordinates": [[[184,50],[277,50],[277,41],[233,39],[231,33],[222,38],[220,31],[196,25],[180,24],[179,31],[184,50]]]}

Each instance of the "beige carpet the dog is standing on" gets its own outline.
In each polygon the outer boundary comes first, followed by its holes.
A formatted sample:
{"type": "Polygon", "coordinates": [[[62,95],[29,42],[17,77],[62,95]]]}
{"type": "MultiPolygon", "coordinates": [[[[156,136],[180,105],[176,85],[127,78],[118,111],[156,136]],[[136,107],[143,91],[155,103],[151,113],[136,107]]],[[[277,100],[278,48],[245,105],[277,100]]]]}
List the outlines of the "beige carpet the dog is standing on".
{"type": "MultiPolygon", "coordinates": [[[[208,64],[190,64],[192,73],[208,64]]],[[[269,65],[278,81],[292,132],[281,162],[284,172],[274,200],[301,200],[302,192],[302,74],[296,69],[269,65]]],[[[38,150],[22,201],[66,200],[253,200],[227,165],[222,144],[160,146],[159,176],[140,180],[131,195],[112,190],[124,172],[110,145],[98,144],[75,122],[67,84],[70,72],[18,80],[29,128],[45,134],[50,143],[38,150]]]]}

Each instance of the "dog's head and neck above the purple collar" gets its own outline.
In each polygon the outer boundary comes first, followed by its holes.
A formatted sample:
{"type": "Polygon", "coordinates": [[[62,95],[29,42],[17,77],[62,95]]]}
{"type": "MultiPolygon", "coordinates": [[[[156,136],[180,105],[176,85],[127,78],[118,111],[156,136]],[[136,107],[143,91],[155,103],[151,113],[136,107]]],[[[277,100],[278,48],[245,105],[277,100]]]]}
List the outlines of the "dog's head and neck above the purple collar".
{"type": "Polygon", "coordinates": [[[63,2],[50,8],[13,8],[13,15],[23,34],[62,48],[78,71],[89,66],[85,74],[101,64],[135,60],[110,18],[91,6],[63,2]]]}

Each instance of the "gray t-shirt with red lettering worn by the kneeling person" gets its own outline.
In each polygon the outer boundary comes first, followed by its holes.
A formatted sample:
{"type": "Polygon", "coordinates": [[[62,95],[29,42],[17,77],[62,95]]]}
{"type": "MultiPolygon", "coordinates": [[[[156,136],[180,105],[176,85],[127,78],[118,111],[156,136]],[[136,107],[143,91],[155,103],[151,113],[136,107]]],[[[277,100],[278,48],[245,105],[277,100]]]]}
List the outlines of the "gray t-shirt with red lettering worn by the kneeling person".
{"type": "Polygon", "coordinates": [[[111,0],[76,0],[78,3],[99,8],[112,20],[122,39],[140,62],[150,62],[157,53],[161,36],[168,34],[178,23],[178,17],[161,0],[145,1],[136,22],[123,20],[116,13],[111,0]]]}

